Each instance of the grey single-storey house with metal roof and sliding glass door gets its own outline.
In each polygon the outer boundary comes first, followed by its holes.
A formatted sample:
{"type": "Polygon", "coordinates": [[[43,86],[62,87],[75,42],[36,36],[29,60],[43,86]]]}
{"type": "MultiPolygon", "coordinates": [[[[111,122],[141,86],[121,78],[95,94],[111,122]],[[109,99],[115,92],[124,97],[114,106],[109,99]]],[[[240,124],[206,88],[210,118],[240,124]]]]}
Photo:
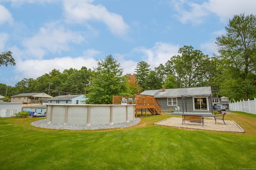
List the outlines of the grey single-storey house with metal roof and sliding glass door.
{"type": "Polygon", "coordinates": [[[211,112],[211,87],[174,88],[162,90],[145,90],[141,94],[156,98],[163,112],[170,112],[179,106],[184,112],[211,112]]]}

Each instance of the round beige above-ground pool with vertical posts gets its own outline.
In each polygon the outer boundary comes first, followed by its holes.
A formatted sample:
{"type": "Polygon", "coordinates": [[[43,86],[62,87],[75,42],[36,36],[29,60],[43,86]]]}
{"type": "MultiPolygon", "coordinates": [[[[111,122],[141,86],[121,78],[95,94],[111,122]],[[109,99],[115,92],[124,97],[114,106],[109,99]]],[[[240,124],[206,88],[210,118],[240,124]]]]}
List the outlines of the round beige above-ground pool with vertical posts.
{"type": "Polygon", "coordinates": [[[105,125],[135,119],[135,105],[47,104],[48,123],[105,125]]]}

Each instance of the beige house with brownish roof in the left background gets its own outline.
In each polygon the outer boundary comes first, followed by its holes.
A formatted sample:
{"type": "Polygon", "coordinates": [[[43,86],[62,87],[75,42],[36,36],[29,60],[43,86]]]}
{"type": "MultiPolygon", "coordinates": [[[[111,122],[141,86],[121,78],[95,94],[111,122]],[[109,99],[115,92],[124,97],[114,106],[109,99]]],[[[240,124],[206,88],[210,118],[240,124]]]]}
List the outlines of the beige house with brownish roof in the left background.
{"type": "Polygon", "coordinates": [[[52,96],[46,93],[22,93],[11,96],[11,103],[38,103],[42,102],[44,98],[52,98],[52,96]]]}

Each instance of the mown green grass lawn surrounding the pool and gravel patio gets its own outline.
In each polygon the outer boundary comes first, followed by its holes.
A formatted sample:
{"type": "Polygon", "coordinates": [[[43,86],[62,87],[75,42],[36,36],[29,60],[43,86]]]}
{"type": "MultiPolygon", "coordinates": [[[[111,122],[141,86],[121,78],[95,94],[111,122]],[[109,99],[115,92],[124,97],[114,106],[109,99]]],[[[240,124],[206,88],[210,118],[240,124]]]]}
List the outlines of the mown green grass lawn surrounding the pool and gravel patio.
{"type": "Polygon", "coordinates": [[[30,125],[44,118],[0,118],[0,169],[255,169],[256,115],[226,115],[246,133],[180,129],[142,115],[123,129],[68,131],[30,125]]]}

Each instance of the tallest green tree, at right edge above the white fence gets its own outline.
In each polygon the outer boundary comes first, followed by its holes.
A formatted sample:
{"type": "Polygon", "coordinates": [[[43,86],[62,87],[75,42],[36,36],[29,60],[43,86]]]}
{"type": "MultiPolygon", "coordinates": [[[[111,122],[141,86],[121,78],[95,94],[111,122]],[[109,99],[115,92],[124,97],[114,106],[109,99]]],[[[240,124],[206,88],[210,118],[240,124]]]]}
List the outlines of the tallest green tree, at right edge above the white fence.
{"type": "Polygon", "coordinates": [[[256,82],[256,15],[235,15],[226,29],[226,35],[216,38],[220,60],[226,67],[227,82],[223,84],[222,93],[234,100],[247,100],[255,92],[256,82]],[[235,74],[234,74],[235,73],[235,74]],[[253,78],[253,79],[251,79],[253,78]],[[230,87],[232,86],[232,87],[230,87]],[[230,95],[230,94],[236,95],[230,95]]]}

